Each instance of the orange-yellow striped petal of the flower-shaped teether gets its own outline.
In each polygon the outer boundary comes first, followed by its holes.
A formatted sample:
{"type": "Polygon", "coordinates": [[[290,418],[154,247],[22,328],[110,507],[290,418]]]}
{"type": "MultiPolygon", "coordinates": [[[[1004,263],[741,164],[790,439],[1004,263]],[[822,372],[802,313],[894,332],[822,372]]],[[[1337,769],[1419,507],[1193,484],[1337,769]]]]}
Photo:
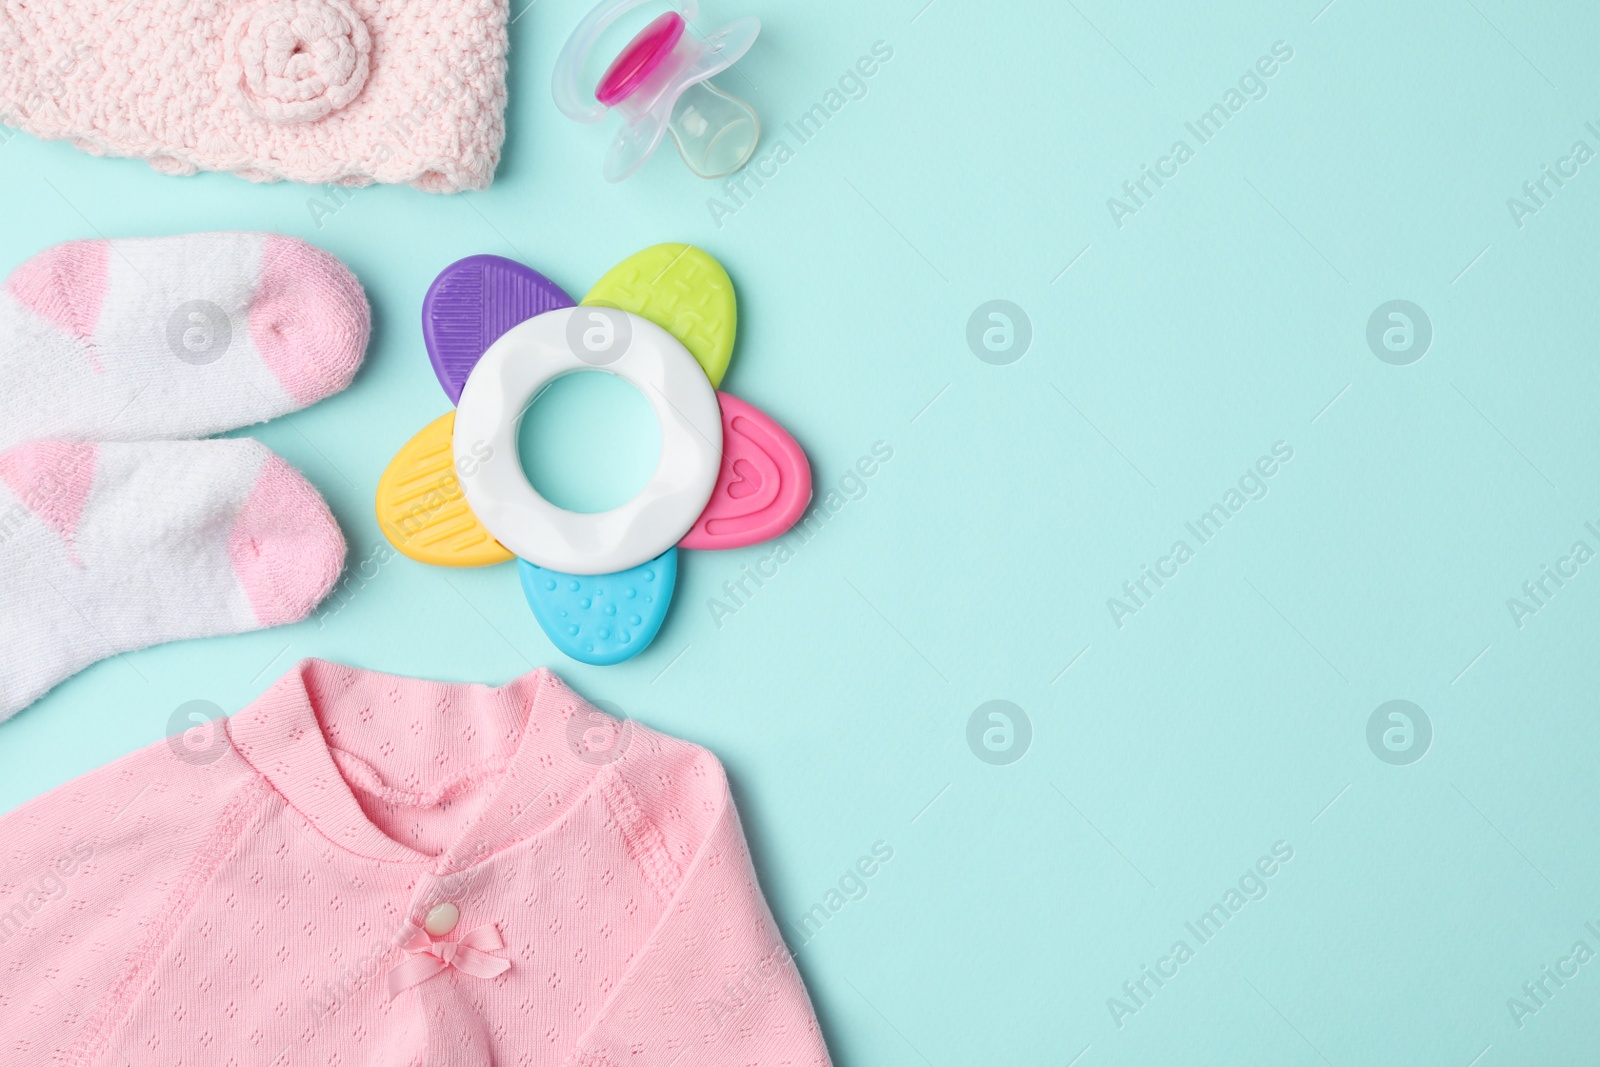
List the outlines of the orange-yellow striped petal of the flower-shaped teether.
{"type": "Polygon", "coordinates": [[[389,544],[419,563],[488,566],[515,558],[467,507],[456,480],[451,435],[456,413],[443,414],[405,443],[378,478],[378,526],[389,544]]]}

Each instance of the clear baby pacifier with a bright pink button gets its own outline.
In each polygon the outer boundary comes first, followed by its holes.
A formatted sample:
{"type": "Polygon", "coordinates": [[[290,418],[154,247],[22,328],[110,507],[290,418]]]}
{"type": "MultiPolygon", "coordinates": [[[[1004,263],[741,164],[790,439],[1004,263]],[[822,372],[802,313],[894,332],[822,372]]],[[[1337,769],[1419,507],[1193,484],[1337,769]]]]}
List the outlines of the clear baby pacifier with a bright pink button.
{"type": "Polygon", "coordinates": [[[731,67],[762,30],[760,19],[728,22],[704,40],[688,26],[696,0],[683,13],[667,11],[642,29],[611,61],[592,94],[579,86],[584,61],[611,22],[646,0],[602,0],[555,61],[550,90],[568,118],[598,123],[608,110],[622,118],[605,157],[605,179],[622,181],[637,171],[672,133],[678,155],[701,178],[726,178],[755,154],[762,122],[755,109],[710,83],[731,67]]]}

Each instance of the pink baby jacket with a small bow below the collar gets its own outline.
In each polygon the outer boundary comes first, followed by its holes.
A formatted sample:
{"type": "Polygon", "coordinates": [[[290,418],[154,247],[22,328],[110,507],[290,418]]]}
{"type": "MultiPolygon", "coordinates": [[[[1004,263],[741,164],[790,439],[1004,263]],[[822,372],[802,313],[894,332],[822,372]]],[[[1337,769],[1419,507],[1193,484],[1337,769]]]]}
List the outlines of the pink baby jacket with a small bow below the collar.
{"type": "Polygon", "coordinates": [[[717,760],[306,661],[0,817],[5,1067],[826,1067],[717,760]]]}

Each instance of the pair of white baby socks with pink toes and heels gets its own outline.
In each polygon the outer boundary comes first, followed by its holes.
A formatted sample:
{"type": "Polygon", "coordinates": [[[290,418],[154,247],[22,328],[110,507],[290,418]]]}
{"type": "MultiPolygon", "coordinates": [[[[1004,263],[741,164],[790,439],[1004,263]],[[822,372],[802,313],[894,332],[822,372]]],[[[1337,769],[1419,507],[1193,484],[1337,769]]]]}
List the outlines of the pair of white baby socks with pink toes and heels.
{"type": "Polygon", "coordinates": [[[344,566],[317,491],[197,440],[344,389],[371,315],[270,234],[72,242],[0,288],[0,720],[98,659],[310,614],[344,566]]]}

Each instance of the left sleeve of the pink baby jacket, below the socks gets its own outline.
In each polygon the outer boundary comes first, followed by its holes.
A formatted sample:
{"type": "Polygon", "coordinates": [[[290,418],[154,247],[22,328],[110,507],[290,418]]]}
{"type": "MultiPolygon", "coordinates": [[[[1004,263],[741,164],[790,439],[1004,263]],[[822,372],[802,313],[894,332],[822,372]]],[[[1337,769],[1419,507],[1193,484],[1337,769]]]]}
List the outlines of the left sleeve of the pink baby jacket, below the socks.
{"type": "Polygon", "coordinates": [[[251,790],[226,745],[184,752],[157,742],[0,816],[6,1067],[99,1051],[208,875],[251,790]]]}

